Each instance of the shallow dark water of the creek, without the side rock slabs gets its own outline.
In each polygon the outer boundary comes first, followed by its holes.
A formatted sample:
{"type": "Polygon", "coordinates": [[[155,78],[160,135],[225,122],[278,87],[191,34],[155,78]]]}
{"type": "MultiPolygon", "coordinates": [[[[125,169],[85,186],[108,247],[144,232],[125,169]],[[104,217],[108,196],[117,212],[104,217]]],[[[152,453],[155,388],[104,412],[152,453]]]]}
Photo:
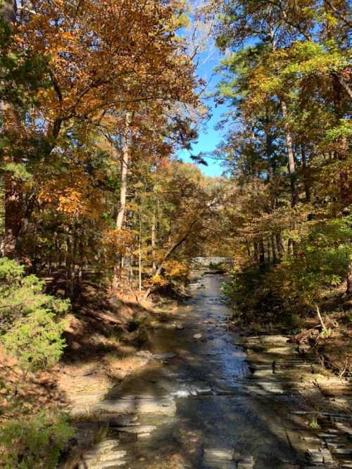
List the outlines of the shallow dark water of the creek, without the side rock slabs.
{"type": "Polygon", "coordinates": [[[227,327],[232,310],[220,293],[222,281],[221,275],[203,275],[191,284],[192,296],[175,318],[183,328],[165,323],[150,339],[153,354],[175,357],[152,360],[109,396],[175,398],[175,415],[139,417],[142,425],[156,426],[149,436],[112,432],[127,451],[124,467],[225,469],[236,468],[234,461],[243,461],[239,468],[293,467],[280,417],[292,402],[246,392],[251,372],[239,336],[227,327]],[[234,452],[234,460],[226,451],[234,452]]]}

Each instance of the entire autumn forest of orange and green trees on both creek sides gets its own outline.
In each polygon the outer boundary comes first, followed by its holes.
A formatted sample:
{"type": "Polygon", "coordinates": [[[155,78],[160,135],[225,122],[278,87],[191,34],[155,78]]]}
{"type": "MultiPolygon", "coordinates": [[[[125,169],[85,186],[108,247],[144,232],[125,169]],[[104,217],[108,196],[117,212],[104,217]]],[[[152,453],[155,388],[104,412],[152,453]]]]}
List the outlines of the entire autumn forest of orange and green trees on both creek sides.
{"type": "MultiPolygon", "coordinates": [[[[348,1],[210,0],[194,12],[178,0],[1,0],[0,10],[0,334],[23,380],[60,360],[65,314],[87,284],[106,296],[170,292],[199,255],[232,261],[223,292],[242,320],[299,330],[316,318],[324,337],[348,341],[348,1]],[[220,161],[219,178],[177,157],[207,113],[196,35],[184,33],[195,20],[214,25],[224,53],[212,94],[224,138],[194,157],[220,161]]],[[[55,467],[72,436],[62,416],[34,411],[4,467],[55,467]],[[58,444],[40,465],[30,435],[43,427],[44,446],[58,444]]],[[[20,427],[2,414],[10,447],[20,427]]]]}

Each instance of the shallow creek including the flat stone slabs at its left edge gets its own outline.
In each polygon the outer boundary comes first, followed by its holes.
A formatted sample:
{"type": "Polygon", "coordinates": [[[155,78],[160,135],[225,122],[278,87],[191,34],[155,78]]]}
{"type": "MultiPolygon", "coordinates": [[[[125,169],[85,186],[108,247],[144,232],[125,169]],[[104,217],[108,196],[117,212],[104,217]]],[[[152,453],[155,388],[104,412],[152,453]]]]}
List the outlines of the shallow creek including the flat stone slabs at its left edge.
{"type": "MultiPolygon", "coordinates": [[[[223,281],[218,274],[194,277],[190,298],[151,332],[139,352],[151,360],[106,396],[99,409],[111,415],[111,431],[82,468],[311,467],[299,463],[287,437],[288,416],[300,398],[289,382],[277,380],[272,357],[311,364],[275,336],[278,343],[266,345],[269,354],[257,351],[256,377],[241,336],[229,327],[232,308],[221,294],[223,281]]],[[[320,453],[312,457],[320,461],[320,453]]]]}

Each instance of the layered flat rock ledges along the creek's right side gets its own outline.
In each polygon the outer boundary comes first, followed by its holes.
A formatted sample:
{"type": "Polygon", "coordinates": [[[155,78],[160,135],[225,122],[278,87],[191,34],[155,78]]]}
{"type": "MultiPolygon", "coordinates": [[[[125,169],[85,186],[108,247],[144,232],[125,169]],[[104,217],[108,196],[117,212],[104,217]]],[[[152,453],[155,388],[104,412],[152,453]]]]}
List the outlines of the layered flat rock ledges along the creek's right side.
{"type": "Polygon", "coordinates": [[[289,413],[281,406],[275,413],[300,467],[351,468],[351,382],[329,373],[314,354],[299,353],[291,337],[264,334],[241,343],[252,371],[249,392],[296,401],[289,413]]]}

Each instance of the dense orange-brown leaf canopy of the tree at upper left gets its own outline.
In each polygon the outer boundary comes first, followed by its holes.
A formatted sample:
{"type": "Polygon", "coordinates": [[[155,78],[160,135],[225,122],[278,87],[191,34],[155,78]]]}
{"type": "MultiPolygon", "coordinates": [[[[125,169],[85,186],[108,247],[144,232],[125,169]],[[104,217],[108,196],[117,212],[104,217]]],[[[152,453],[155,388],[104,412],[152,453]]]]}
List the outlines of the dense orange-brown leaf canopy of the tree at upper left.
{"type": "Polygon", "coordinates": [[[44,112],[94,118],[159,96],[194,101],[191,61],[165,29],[176,9],[157,0],[36,2],[17,40],[49,57],[56,96],[45,95],[44,112]]]}

